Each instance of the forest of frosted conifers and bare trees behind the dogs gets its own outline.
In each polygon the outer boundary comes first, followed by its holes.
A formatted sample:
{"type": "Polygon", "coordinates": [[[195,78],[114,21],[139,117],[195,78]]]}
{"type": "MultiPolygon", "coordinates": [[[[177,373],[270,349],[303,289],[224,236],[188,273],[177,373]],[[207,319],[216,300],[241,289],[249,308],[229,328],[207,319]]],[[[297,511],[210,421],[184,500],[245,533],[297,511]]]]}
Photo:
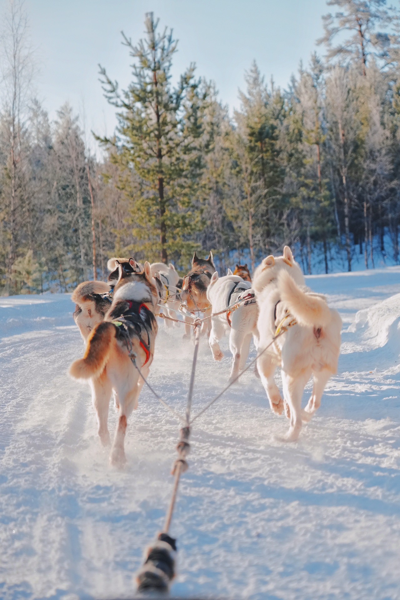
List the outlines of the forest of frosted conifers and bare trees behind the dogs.
{"type": "MultiPolygon", "coordinates": [[[[67,291],[103,278],[110,256],[174,262],[213,250],[254,269],[294,248],[306,272],[399,263],[399,14],[384,0],[329,0],[308,66],[285,90],[246,71],[240,109],[190,64],[177,82],[172,31],[145,17],[123,36],[126,90],[99,67],[115,106],[92,155],[65,104],[54,122],[30,92],[23,5],[4,20],[0,109],[0,293],[67,291]],[[133,62],[133,67],[129,66],[133,62]],[[334,264],[335,263],[335,264],[334,264]]],[[[340,270],[340,269],[339,269],[340,270]]]]}

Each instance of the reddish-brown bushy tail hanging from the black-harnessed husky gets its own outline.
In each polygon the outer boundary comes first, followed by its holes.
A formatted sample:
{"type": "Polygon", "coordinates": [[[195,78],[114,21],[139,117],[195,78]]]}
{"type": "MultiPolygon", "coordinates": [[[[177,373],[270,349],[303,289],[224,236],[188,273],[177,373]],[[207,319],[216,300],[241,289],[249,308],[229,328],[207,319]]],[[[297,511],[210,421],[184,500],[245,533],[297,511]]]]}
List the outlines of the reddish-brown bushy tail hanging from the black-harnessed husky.
{"type": "Polygon", "coordinates": [[[88,337],[83,358],[74,361],[69,374],[74,379],[90,379],[102,373],[110,352],[111,343],[115,338],[115,325],[108,321],[98,323],[88,337]]]}

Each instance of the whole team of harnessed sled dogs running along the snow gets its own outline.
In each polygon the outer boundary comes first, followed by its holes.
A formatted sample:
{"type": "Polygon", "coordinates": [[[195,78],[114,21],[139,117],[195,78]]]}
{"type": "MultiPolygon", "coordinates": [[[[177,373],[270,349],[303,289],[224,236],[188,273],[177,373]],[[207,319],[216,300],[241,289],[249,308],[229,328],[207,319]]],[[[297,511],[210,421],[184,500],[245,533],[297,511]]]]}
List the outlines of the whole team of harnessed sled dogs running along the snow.
{"type": "MultiPolygon", "coordinates": [[[[233,274],[228,269],[227,275],[219,277],[211,252],[204,260],[195,253],[192,269],[183,280],[171,263],[141,265],[132,258],[114,258],[109,260],[108,269],[108,283],[85,281],[71,296],[76,302],[74,321],[86,349],[83,358],[71,365],[70,375],[90,382],[98,434],[105,446],[111,441],[108,412],[114,395],[119,418],[112,464],[123,466],[125,462],[127,419],[138,406],[144,384],[139,371],[145,378],[150,372],[158,329],[156,315],[163,311],[166,317],[175,318],[180,303],[187,313],[204,317],[201,330],[208,335],[216,361],[223,357],[219,342],[229,335],[230,380],[244,368],[253,339],[259,355],[256,374],[261,377],[271,409],[276,415],[285,410],[289,419],[289,430],[282,440],[298,438],[302,423],[320,407],[326,383],[337,371],[342,321],[323,295],[306,287],[288,246],[282,256],[262,260],[253,282],[247,265],[236,265],[233,274]],[[226,311],[234,305],[236,310],[226,311]],[[288,323],[293,326],[286,329],[288,323]],[[274,339],[280,331],[284,333],[274,339]],[[283,398],[274,381],[277,367],[282,373],[283,398]],[[303,391],[311,376],[312,394],[302,410],[303,391]]],[[[184,320],[184,338],[189,338],[189,321],[193,320],[188,316],[184,320]]],[[[166,319],[166,326],[174,326],[174,322],[166,319]]]]}

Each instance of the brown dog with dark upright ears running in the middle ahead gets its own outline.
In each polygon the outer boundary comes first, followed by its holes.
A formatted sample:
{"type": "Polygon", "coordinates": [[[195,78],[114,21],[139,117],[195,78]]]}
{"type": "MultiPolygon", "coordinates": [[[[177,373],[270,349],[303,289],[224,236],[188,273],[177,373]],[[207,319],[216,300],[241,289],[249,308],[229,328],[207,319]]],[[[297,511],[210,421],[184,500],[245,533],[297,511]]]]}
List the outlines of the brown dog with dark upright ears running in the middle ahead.
{"type": "MultiPolygon", "coordinates": [[[[183,286],[181,291],[181,301],[186,304],[187,310],[190,313],[198,316],[198,311],[204,311],[204,316],[211,314],[210,302],[207,298],[207,287],[210,285],[210,280],[213,273],[216,271],[213,259],[213,253],[208,254],[207,259],[199,259],[196,253],[193,254],[192,269],[183,278],[183,286]],[[205,310],[206,309],[206,310],[205,310]]],[[[185,319],[188,320],[187,318],[185,319]]],[[[190,325],[185,325],[185,336],[190,337],[190,325]]],[[[205,326],[202,326],[202,333],[207,331],[207,335],[211,332],[211,320],[207,319],[205,326]]]]}

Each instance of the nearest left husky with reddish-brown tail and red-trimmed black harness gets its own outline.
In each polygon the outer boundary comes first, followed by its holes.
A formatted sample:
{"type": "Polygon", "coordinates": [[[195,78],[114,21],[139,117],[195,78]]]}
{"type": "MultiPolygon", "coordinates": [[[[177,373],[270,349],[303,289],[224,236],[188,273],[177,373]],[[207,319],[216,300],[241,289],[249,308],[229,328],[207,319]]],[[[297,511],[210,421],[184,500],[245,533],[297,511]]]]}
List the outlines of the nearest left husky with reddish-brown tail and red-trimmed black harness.
{"type": "Polygon", "coordinates": [[[123,466],[127,419],[138,406],[144,383],[138,368],[146,378],[153,361],[158,295],[148,262],[141,273],[127,273],[121,264],[118,270],[111,308],[89,335],[85,355],[71,364],[69,373],[74,379],[90,380],[103,445],[110,442],[108,410],[114,391],[119,417],[110,460],[123,466]],[[132,363],[130,350],[138,368],[132,363]]]}

